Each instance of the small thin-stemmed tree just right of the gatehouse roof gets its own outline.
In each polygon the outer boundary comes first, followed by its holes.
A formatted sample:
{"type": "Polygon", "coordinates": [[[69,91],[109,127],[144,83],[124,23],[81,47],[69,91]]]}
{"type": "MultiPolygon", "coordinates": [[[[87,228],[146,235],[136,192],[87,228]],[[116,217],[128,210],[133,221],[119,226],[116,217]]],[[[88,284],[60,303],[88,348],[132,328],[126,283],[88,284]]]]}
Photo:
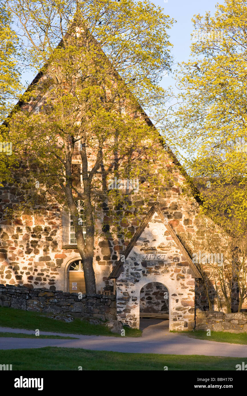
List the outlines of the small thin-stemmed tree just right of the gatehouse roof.
{"type": "Polygon", "coordinates": [[[192,257],[195,257],[195,263],[201,273],[200,282],[208,309],[212,310],[216,305],[218,311],[224,308],[227,312],[232,312],[232,297],[235,292],[235,284],[232,282],[232,251],[229,248],[232,238],[205,216],[203,207],[196,222],[196,234],[184,235],[183,239],[190,245],[192,257]]]}

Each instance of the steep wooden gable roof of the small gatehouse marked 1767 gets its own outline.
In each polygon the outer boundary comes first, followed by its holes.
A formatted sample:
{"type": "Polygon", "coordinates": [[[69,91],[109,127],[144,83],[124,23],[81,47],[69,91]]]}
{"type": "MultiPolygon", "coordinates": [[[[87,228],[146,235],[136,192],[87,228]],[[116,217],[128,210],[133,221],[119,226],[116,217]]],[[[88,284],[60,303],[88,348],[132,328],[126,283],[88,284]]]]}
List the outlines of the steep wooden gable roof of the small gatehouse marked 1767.
{"type": "MultiPolygon", "coordinates": [[[[147,227],[149,221],[152,219],[152,216],[153,216],[153,214],[155,212],[160,217],[162,223],[165,225],[166,229],[168,230],[168,232],[172,236],[174,242],[176,243],[176,245],[178,246],[179,250],[181,251],[181,253],[185,257],[187,263],[189,264],[189,268],[191,270],[192,277],[193,278],[201,278],[201,274],[200,274],[199,270],[197,269],[197,267],[195,266],[195,264],[192,262],[192,259],[191,259],[190,255],[189,255],[189,253],[187,252],[185,246],[179,240],[178,236],[175,234],[174,230],[172,229],[172,227],[170,226],[170,224],[168,223],[168,221],[164,217],[162,211],[160,210],[160,208],[159,208],[159,206],[157,204],[154,204],[154,206],[152,206],[152,208],[147,213],[145,219],[143,219],[143,222],[141,223],[141,225],[139,225],[139,227],[137,228],[137,231],[135,232],[135,234],[131,238],[131,241],[129,242],[125,252],[123,253],[125,259],[127,259],[129,253],[131,252],[131,250],[135,246],[135,243],[140,238],[141,234],[143,233],[143,231],[147,227]]],[[[116,267],[114,268],[114,270],[111,272],[111,274],[109,276],[109,279],[118,278],[118,276],[120,276],[120,274],[123,271],[123,266],[124,266],[124,263],[121,260],[118,260],[118,262],[116,264],[116,267]]]]}

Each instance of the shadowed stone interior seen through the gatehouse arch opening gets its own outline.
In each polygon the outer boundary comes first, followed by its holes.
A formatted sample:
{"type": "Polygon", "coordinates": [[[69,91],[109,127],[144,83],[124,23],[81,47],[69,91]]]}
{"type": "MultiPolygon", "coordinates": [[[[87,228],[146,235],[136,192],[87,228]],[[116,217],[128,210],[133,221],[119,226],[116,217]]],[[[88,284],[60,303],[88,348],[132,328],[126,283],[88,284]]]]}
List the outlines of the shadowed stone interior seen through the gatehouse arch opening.
{"type": "Polygon", "coordinates": [[[169,293],[166,286],[150,282],[140,291],[140,312],[169,314],[169,293]]]}

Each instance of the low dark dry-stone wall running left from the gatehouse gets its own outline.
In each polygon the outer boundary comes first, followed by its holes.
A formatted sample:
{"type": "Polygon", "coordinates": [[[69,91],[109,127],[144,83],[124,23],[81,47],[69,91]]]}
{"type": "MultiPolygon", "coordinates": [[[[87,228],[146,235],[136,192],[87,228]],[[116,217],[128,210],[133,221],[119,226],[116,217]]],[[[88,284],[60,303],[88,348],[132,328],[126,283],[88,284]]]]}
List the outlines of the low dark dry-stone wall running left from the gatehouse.
{"type": "Polygon", "coordinates": [[[1,307],[53,314],[66,313],[79,318],[93,316],[101,320],[116,319],[114,295],[83,294],[81,297],[79,298],[78,293],[0,284],[1,307]]]}

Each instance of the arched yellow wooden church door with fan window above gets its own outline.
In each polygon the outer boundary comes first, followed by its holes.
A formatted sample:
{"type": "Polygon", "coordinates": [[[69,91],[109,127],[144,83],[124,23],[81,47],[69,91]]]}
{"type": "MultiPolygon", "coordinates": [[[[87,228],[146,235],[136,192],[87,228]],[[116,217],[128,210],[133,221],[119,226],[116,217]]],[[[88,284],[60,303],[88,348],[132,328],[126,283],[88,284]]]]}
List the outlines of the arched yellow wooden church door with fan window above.
{"type": "Polygon", "coordinates": [[[86,293],[83,264],[81,260],[75,260],[69,265],[69,293],[86,293]]]}

